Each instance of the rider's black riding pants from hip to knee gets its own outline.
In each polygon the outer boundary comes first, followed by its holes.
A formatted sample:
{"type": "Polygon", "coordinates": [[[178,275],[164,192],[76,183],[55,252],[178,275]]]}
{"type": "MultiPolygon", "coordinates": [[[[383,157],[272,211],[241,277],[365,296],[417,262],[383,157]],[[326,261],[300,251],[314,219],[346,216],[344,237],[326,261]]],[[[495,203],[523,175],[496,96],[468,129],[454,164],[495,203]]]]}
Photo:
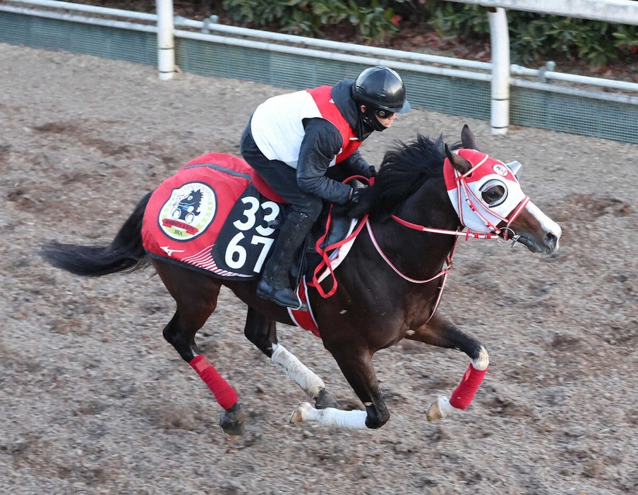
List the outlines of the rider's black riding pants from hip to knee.
{"type": "Polygon", "coordinates": [[[289,202],[293,211],[306,214],[313,221],[318,218],[323,200],[301,190],[297,184],[297,171],[291,166],[264,156],[253,139],[250,121],[241,135],[240,150],[248,165],[257,171],[275,193],[289,202]]]}

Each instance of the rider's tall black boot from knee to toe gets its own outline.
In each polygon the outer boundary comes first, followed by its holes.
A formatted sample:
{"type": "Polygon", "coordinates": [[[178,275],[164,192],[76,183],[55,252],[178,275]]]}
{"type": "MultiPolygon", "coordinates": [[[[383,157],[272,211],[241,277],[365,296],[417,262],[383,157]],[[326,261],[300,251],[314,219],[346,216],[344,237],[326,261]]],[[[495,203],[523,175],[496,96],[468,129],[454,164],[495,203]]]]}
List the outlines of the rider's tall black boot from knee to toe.
{"type": "Polygon", "coordinates": [[[301,302],[294,289],[290,288],[289,273],[296,252],[306,240],[313,222],[305,213],[292,211],[288,214],[257,284],[257,295],[260,298],[294,310],[308,310],[306,303],[301,302]]]}

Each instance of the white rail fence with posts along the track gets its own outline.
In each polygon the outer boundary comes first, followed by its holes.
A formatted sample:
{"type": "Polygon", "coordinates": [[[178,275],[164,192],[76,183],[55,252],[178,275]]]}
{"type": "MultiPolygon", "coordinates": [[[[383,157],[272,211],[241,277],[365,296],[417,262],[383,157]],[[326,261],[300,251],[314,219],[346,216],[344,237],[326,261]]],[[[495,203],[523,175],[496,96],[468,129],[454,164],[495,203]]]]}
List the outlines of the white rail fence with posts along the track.
{"type": "Polygon", "coordinates": [[[54,0],[0,0],[1,12],[99,24],[157,33],[159,78],[170,80],[175,67],[175,38],[227,44],[268,52],[311,56],[316,59],[386,65],[399,71],[433,74],[450,78],[477,80],[490,84],[490,124],[495,134],[506,133],[510,126],[510,89],[534,90],[586,97],[631,105],[638,119],[638,84],[603,78],[555,72],[552,66],[534,69],[510,64],[510,42],[506,8],[552,13],[610,23],[638,25],[638,1],[632,0],[450,0],[489,7],[491,63],[450,57],[365,47],[321,39],[284,35],[260,30],[221,25],[215,18],[195,21],[175,17],[172,0],[157,0],[157,15],[73,4],[54,0]],[[37,6],[40,9],[28,8],[37,6]],[[89,13],[92,16],[78,16],[89,13]],[[119,19],[126,19],[119,20],[119,19]],[[137,23],[131,20],[139,21],[137,23]],[[179,29],[176,29],[179,27],[179,29]],[[558,84],[550,84],[556,81],[558,84]],[[586,88],[586,89],[585,89],[586,88]],[[614,92],[608,92],[613,90],[614,92]]]}

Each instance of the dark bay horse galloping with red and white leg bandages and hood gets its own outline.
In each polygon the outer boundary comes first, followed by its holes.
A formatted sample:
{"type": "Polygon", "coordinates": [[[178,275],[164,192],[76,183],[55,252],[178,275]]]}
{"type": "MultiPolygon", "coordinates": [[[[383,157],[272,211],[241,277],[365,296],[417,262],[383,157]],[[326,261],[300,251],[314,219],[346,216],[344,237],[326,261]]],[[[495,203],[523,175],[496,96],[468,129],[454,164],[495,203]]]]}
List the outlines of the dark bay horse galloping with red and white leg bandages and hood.
{"type": "MultiPolygon", "coordinates": [[[[560,226],[524,195],[515,175],[519,165],[480,152],[467,125],[461,141],[450,145],[443,135],[429,138],[417,133],[413,142],[398,142],[385,153],[371,184],[360,188],[358,204],[341,212],[359,219],[361,228],[347,255],[330,268],[333,290],[327,291],[330,277],[315,279],[305,287],[305,295],[316,333],[361,401],[359,409],[339,409],[323,380],[279,343],[276,323],[294,325],[297,319],[288,308],[256,295],[258,278],[227,278],[149,255],[142,229],[152,192],[140,200],[112,243],[49,242],[41,255],[54,267],[80,276],[128,272],[150,262],[176,302],[163,336],[212,391],[222,408],[219,424],[229,438],[240,436],[245,428],[239,397],[195,343],[198,330],[215,311],[222,286],[248,306],[248,341],[308,396],[291,413],[291,422],[382,427],[390,412],[380,393],[373,355],[403,338],[469,357],[450,397],[438,396],[428,407],[427,420],[440,420],[470,405],[489,365],[486,347],[437,311],[457,240],[522,243],[534,253],[558,250],[560,226]]],[[[272,201],[267,204],[272,208],[272,201]]],[[[334,209],[339,214],[336,205],[334,209]]],[[[262,228],[275,230],[272,222],[262,228]]]]}

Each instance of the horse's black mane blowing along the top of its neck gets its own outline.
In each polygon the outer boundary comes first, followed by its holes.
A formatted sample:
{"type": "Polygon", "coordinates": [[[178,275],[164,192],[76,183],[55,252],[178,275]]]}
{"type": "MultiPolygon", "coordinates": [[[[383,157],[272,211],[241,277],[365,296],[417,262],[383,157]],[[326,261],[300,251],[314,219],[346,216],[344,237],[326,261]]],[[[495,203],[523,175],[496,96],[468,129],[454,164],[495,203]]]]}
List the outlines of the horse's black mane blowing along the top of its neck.
{"type": "MultiPolygon", "coordinates": [[[[450,149],[459,147],[459,143],[450,145],[450,149]]],[[[398,142],[385,153],[374,185],[361,190],[361,200],[349,215],[369,213],[374,218],[395,213],[425,181],[443,176],[444,160],[443,134],[431,139],[418,133],[412,142],[398,142]]]]}

